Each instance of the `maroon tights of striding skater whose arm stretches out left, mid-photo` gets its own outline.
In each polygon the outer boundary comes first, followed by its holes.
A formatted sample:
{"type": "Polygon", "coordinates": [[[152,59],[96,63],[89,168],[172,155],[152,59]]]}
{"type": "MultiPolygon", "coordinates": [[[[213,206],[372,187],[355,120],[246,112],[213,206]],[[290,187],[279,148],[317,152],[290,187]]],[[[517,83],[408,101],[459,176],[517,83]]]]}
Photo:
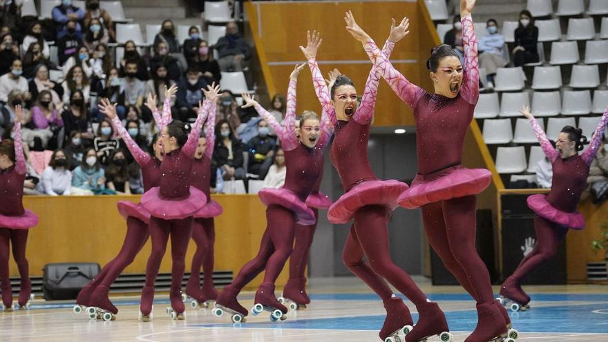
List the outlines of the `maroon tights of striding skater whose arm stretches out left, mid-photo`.
{"type": "Polygon", "coordinates": [[[270,205],[266,209],[266,220],[268,225],[262,236],[258,255],[249,260],[232,281],[231,286],[238,291],[264,269],[266,273],[263,285],[274,285],[287,258],[292,254],[296,229],[294,212],[280,205],[270,205]]]}

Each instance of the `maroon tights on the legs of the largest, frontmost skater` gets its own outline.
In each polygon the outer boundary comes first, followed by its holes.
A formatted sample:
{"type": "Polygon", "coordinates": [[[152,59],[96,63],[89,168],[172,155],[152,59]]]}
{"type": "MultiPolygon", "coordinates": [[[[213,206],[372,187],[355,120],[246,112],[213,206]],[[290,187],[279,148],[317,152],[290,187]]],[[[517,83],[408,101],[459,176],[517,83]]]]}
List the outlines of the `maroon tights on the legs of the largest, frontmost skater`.
{"type": "Polygon", "coordinates": [[[422,207],[424,230],[446,268],[477,303],[494,301],[490,274],[475,249],[475,196],[434,202],[422,207]]]}

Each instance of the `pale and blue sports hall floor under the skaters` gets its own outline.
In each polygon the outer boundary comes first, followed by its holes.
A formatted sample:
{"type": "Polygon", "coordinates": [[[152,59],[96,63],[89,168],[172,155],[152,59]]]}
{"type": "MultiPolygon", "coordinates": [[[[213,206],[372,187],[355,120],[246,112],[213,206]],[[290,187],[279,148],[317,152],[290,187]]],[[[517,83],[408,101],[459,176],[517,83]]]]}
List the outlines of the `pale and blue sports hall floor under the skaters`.
{"type": "MultiPolygon", "coordinates": [[[[459,287],[432,286],[421,277],[415,281],[446,312],[454,341],[464,341],[477,320],[471,297],[459,287]]],[[[524,289],[531,294],[531,309],[510,312],[513,327],[520,331],[518,341],[608,342],[608,285],[524,289]]],[[[309,292],[311,305],[289,312],[286,321],[271,323],[266,313],[249,314],[240,325],[230,323],[227,315],[216,318],[210,309],[193,310],[189,305],[184,321],[171,321],[165,314],[167,294],[156,296],[150,323],[137,321],[136,296],[112,298],[120,312],[111,322],[74,314],[73,302],[35,300],[31,310],[0,312],[0,341],[379,341],[381,301],[357,278],[311,279],[309,292]]],[[[253,296],[246,292],[239,299],[251,307],[253,296]]],[[[416,321],[413,305],[406,303],[416,321]]]]}

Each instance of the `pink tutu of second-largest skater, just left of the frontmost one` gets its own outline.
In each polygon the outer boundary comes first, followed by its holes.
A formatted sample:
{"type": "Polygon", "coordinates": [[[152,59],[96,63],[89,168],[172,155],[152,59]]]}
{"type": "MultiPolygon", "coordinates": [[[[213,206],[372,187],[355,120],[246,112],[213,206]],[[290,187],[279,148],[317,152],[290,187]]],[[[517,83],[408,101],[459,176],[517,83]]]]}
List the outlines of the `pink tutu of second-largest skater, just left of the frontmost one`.
{"type": "Polygon", "coordinates": [[[397,198],[408,189],[408,184],[397,180],[368,180],[361,182],[343,194],[327,212],[332,223],[350,221],[354,212],[366,205],[385,205],[394,210],[397,198]]]}

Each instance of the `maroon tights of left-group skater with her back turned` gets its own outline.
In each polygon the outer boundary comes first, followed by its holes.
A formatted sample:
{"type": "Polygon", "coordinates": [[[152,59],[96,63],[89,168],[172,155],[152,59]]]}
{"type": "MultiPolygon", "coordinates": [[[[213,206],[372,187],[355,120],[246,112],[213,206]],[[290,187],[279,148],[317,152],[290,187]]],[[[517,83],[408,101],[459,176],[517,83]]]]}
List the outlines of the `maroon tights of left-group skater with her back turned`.
{"type": "Polygon", "coordinates": [[[167,251],[167,242],[171,236],[171,288],[181,288],[184,271],[186,270],[186,251],[192,236],[193,217],[182,220],[163,220],[150,218],[150,237],[152,239],[152,252],[146,265],[146,286],[153,287],[164,252],[167,251]]]}

